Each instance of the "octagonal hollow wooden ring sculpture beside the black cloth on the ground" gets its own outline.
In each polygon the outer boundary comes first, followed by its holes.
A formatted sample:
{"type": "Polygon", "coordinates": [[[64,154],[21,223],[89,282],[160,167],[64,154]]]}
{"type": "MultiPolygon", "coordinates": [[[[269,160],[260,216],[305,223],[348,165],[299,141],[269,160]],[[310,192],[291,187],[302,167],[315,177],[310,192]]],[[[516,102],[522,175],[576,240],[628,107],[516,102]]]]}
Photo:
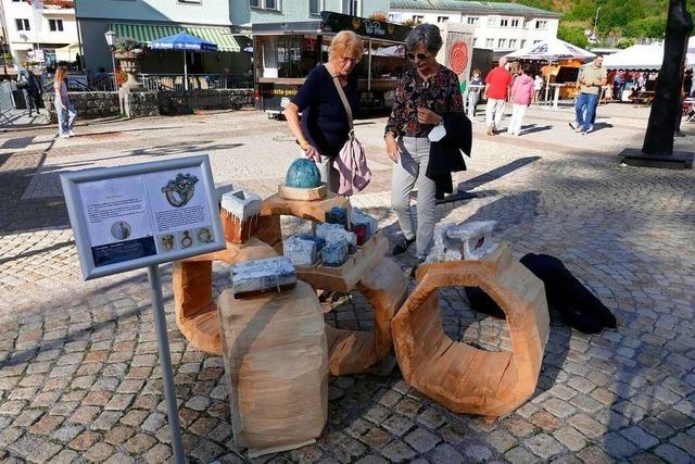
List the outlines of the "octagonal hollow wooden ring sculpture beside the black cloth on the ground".
{"type": "Polygon", "coordinates": [[[500,246],[482,261],[422,265],[418,285],[393,319],[405,380],[459,413],[498,417],[535,390],[548,334],[543,283],[500,246]],[[511,352],[488,352],[451,340],[439,314],[441,287],[480,287],[503,309],[511,352]]]}

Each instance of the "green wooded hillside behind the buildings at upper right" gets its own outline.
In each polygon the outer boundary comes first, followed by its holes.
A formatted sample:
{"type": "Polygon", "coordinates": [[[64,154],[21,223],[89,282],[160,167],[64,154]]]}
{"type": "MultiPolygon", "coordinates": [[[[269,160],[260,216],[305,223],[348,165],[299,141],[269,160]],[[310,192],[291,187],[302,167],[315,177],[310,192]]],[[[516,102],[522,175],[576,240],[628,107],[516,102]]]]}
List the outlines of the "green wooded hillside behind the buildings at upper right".
{"type": "MultiPolygon", "coordinates": [[[[492,0],[494,1],[494,0],[492,0]]],[[[668,0],[505,0],[560,13],[558,37],[579,47],[587,47],[584,30],[594,29],[603,46],[629,47],[642,39],[659,39],[666,30],[668,0]]],[[[695,0],[687,0],[695,15],[695,0]]]]}

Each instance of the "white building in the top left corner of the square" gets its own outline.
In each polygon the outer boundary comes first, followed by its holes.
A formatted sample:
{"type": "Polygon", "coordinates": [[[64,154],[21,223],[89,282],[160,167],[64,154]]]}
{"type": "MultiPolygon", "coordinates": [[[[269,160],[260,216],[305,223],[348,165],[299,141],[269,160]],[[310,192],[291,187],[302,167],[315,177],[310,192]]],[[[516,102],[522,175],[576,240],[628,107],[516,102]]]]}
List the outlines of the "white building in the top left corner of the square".
{"type": "Polygon", "coordinates": [[[0,1],[15,67],[24,62],[50,65],[76,59],[79,47],[73,0],[43,0],[42,9],[27,0],[0,1]]]}

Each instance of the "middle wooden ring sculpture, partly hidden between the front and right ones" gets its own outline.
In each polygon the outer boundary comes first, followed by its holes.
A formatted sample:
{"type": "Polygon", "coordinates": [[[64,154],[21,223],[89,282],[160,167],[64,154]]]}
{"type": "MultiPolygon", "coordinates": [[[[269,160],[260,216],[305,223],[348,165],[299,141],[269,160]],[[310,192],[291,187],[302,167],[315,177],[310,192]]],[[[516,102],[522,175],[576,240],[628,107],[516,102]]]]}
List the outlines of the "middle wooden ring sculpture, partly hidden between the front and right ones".
{"type": "Polygon", "coordinates": [[[391,319],[407,296],[408,281],[401,268],[383,254],[388,240],[376,234],[340,267],[296,266],[298,278],[317,290],[358,290],[374,308],[372,331],[326,326],[330,373],[362,373],[383,359],[392,346],[391,319]]]}

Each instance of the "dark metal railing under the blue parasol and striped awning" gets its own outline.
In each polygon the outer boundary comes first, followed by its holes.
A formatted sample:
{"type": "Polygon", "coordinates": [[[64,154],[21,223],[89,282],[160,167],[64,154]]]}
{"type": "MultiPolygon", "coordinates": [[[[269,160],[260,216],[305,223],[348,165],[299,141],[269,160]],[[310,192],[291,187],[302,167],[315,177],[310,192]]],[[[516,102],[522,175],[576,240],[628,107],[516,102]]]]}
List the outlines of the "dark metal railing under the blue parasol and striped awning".
{"type": "MultiPolygon", "coordinates": [[[[182,74],[140,74],[147,90],[184,90],[186,77],[182,74]]],[[[188,89],[252,89],[253,77],[220,74],[189,74],[188,89]]]]}

